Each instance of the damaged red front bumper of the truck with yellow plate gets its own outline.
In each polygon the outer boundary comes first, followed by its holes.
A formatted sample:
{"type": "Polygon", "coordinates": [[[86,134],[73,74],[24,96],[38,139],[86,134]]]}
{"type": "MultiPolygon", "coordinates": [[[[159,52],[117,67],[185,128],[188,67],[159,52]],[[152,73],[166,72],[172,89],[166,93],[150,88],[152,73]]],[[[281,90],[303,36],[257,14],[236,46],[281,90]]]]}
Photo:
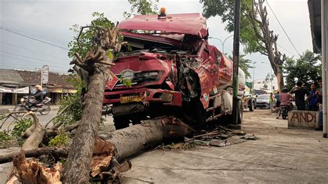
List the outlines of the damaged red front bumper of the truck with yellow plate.
{"type": "Polygon", "coordinates": [[[140,102],[163,102],[164,105],[182,106],[181,92],[147,88],[105,91],[104,104],[122,103],[122,98],[128,96],[138,96],[140,102]]]}

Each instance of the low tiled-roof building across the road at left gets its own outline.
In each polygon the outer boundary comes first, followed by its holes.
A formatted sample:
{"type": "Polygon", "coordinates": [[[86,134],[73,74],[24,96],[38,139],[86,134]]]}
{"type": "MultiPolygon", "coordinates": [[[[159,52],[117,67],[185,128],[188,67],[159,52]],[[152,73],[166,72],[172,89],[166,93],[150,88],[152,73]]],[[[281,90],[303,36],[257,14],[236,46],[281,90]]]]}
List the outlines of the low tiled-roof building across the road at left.
{"type": "MultiPolygon", "coordinates": [[[[58,102],[64,94],[76,93],[68,78],[69,75],[49,73],[48,83],[43,84],[42,90],[52,99],[51,103],[58,102]]],[[[34,93],[35,85],[40,83],[40,71],[0,69],[0,104],[17,104],[22,96],[34,93]]]]}

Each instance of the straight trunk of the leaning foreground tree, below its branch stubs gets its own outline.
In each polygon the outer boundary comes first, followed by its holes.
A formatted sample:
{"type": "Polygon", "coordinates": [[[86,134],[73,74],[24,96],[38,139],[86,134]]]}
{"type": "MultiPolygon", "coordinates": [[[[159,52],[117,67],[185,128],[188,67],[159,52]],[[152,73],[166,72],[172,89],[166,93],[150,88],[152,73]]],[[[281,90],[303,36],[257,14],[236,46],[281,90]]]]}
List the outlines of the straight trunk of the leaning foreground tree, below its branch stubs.
{"type": "Polygon", "coordinates": [[[104,86],[109,78],[108,66],[90,77],[89,91],[84,96],[84,109],[80,125],[69,149],[64,167],[64,183],[87,183],[95,136],[98,134],[102,113],[104,86]]]}

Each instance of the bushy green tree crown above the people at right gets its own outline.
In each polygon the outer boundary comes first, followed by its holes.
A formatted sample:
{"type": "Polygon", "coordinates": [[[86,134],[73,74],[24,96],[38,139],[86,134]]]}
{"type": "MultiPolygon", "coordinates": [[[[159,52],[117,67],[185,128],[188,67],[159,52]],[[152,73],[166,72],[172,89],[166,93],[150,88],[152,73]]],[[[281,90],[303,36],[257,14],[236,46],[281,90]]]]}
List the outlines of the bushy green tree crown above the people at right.
{"type": "Polygon", "coordinates": [[[286,58],[284,64],[284,77],[287,89],[292,89],[295,82],[302,81],[304,87],[310,88],[311,83],[316,83],[321,78],[320,55],[306,50],[298,59],[286,58]]]}

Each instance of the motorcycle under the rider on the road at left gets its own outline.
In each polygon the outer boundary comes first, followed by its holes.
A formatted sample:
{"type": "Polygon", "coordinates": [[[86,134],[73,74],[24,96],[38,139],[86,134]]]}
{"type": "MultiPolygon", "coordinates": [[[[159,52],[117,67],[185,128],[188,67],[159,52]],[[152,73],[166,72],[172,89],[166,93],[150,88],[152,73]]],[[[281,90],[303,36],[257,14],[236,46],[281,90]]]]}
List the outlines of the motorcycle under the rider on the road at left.
{"type": "Polygon", "coordinates": [[[35,102],[34,96],[24,96],[19,101],[21,104],[17,104],[14,111],[33,111],[39,112],[42,115],[46,115],[51,111],[51,107],[48,104],[51,101],[51,98],[46,98],[36,105],[33,104],[33,102],[35,102]]]}

